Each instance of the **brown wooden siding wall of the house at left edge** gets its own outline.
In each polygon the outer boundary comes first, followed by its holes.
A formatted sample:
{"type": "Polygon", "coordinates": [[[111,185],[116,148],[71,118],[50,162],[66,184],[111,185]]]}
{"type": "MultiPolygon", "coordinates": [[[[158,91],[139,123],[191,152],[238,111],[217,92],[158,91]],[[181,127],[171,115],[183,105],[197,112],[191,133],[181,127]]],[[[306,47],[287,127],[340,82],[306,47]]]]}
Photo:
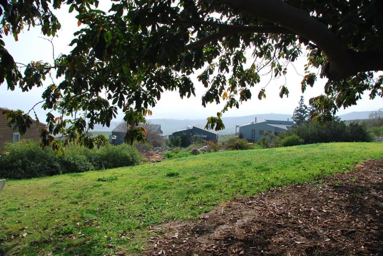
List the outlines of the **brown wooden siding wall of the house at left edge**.
{"type": "MultiPolygon", "coordinates": [[[[0,152],[4,150],[4,143],[13,142],[13,133],[18,132],[18,130],[13,131],[13,128],[8,127],[8,121],[5,119],[5,115],[0,113],[0,152]]],[[[31,128],[20,137],[20,139],[34,139],[38,141],[40,139],[40,130],[44,128],[44,125],[41,123],[36,127],[36,122],[33,122],[31,128]]]]}

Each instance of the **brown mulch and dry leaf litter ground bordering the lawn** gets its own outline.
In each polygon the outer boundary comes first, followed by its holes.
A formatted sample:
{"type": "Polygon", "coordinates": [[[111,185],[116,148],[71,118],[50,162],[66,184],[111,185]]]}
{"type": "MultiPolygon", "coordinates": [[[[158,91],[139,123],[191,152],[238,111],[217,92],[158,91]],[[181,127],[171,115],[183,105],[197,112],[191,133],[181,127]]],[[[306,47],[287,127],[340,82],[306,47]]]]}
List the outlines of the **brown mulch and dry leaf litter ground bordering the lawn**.
{"type": "MultiPolygon", "coordinates": [[[[383,160],[169,223],[149,255],[383,255],[383,160]]],[[[158,228],[158,227],[157,227],[158,228]]]]}

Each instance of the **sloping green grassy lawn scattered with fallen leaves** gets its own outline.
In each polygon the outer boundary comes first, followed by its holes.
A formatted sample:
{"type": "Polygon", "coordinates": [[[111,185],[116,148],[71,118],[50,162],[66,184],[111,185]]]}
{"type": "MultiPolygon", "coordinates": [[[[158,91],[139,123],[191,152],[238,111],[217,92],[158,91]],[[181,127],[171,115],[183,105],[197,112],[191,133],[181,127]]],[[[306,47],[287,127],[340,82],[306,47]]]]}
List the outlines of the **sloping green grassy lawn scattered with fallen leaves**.
{"type": "Polygon", "coordinates": [[[383,143],[312,144],[10,180],[0,194],[0,254],[134,254],[163,220],[197,219],[234,197],[352,170],[382,152],[383,143]]]}

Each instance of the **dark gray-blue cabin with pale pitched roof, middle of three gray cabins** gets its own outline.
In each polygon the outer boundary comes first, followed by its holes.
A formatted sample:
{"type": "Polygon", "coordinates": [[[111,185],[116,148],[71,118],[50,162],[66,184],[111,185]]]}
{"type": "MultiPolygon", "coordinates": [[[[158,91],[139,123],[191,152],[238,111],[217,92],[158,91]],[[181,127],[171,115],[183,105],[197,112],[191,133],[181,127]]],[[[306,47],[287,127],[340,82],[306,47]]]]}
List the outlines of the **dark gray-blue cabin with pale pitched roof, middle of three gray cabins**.
{"type": "Polygon", "coordinates": [[[218,131],[214,130],[207,130],[205,129],[205,126],[203,125],[193,125],[188,126],[186,129],[175,131],[172,134],[168,136],[168,138],[172,138],[173,136],[177,137],[180,136],[182,138],[183,133],[185,133],[185,144],[182,145],[183,147],[189,146],[190,143],[190,137],[201,137],[202,139],[206,141],[218,141],[218,131]]]}

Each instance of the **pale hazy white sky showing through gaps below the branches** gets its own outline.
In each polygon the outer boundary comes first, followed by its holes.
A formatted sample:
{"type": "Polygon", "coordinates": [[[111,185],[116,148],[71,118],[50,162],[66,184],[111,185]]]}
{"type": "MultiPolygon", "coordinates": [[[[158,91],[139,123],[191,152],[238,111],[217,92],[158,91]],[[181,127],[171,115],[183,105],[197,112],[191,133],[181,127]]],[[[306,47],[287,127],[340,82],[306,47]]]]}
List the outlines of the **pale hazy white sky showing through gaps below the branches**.
{"type": "MultiPolygon", "coordinates": [[[[108,1],[102,2],[101,8],[107,9],[110,4],[108,1]]],[[[57,57],[60,53],[69,53],[70,47],[68,44],[72,41],[73,32],[77,31],[77,19],[75,19],[75,13],[68,13],[67,6],[62,5],[62,10],[56,10],[57,17],[62,24],[62,29],[57,33],[58,37],[53,39],[54,43],[54,55],[57,57]]],[[[82,25],[84,26],[84,25],[82,25]]],[[[44,62],[52,63],[52,45],[49,41],[41,39],[44,37],[41,34],[41,28],[31,28],[30,31],[24,31],[19,35],[19,41],[15,42],[13,37],[7,37],[4,39],[5,47],[14,57],[15,62],[29,63],[32,60],[42,60],[44,62]]],[[[286,75],[286,86],[290,91],[289,97],[279,97],[279,87],[285,83],[285,78],[274,79],[266,87],[267,98],[258,100],[257,95],[259,89],[267,84],[270,79],[269,76],[262,77],[261,83],[252,89],[252,100],[244,102],[240,105],[239,109],[231,109],[224,114],[224,117],[232,116],[245,116],[264,113],[293,113],[295,107],[298,105],[298,101],[302,95],[300,89],[300,83],[302,81],[303,65],[305,64],[306,57],[301,57],[295,62],[295,69],[290,66],[286,75]]],[[[248,63],[252,63],[251,59],[248,59],[248,63]]],[[[153,116],[151,118],[175,118],[175,119],[196,119],[206,118],[211,115],[215,115],[216,112],[222,109],[221,105],[210,104],[206,108],[201,105],[201,96],[206,91],[206,88],[200,84],[196,77],[201,73],[201,70],[196,70],[195,74],[191,75],[191,79],[195,84],[196,97],[190,97],[189,99],[180,99],[178,92],[165,92],[161,95],[161,99],[157,102],[157,105],[152,109],[153,116]]],[[[57,83],[57,80],[54,80],[57,83]]],[[[47,86],[52,83],[50,78],[44,81],[44,85],[47,86]]],[[[326,79],[318,79],[314,87],[308,87],[303,96],[306,104],[310,97],[318,96],[324,93],[323,86],[326,83],[326,79]]],[[[22,109],[28,111],[36,102],[41,100],[41,93],[44,88],[33,88],[30,92],[21,92],[20,89],[15,91],[7,91],[7,84],[3,83],[0,86],[0,107],[8,107],[9,109],[22,109]]],[[[353,111],[368,111],[376,110],[383,107],[383,99],[376,98],[370,100],[368,93],[366,93],[362,100],[358,101],[358,105],[349,107],[347,109],[340,109],[339,114],[349,113],[353,111]]],[[[38,110],[40,120],[45,120],[44,110],[38,110]]],[[[122,114],[118,115],[117,121],[121,120],[122,114]]]]}

